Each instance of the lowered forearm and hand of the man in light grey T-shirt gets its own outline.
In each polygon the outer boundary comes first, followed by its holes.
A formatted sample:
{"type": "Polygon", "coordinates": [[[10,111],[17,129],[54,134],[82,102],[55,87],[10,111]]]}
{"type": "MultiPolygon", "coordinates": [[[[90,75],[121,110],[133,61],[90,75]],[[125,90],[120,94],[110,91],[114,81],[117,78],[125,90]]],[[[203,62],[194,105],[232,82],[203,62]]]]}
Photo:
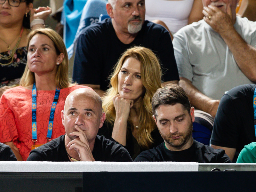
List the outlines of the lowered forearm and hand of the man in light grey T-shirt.
{"type": "Polygon", "coordinates": [[[198,89],[196,89],[191,81],[184,77],[180,77],[179,85],[188,94],[188,99],[191,103],[191,106],[194,106],[196,109],[205,111],[211,116],[215,117],[220,100],[213,100],[207,97],[198,89]]]}

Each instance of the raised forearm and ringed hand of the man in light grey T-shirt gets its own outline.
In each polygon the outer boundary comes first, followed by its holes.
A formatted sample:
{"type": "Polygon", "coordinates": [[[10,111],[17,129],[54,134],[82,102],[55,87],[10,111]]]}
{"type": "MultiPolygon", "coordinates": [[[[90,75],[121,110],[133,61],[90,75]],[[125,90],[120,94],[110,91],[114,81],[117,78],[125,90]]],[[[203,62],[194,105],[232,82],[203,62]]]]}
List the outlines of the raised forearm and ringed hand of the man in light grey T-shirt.
{"type": "Polygon", "coordinates": [[[227,5],[227,13],[211,5],[204,7],[203,13],[205,22],[223,38],[244,75],[256,82],[256,49],[247,44],[234,28],[236,15],[231,11],[231,5],[227,5]]]}

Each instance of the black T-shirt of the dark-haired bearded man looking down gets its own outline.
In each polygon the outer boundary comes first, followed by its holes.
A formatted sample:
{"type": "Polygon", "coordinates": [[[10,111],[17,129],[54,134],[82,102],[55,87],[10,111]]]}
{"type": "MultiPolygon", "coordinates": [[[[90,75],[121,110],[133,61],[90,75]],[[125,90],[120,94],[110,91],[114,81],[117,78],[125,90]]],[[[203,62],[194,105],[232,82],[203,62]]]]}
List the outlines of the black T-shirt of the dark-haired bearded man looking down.
{"type": "Polygon", "coordinates": [[[170,151],[163,142],[153,149],[143,151],[134,161],[232,163],[223,149],[214,149],[196,140],[193,140],[190,148],[182,151],[170,151]]]}

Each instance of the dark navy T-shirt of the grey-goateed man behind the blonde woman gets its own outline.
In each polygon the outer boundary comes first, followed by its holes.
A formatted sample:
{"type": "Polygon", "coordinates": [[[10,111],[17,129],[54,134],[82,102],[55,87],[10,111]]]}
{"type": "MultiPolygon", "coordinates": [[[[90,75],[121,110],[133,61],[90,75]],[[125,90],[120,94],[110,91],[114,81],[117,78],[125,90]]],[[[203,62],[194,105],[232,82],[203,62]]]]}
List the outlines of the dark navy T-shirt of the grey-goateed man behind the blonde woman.
{"type": "Polygon", "coordinates": [[[179,80],[169,32],[162,26],[145,21],[142,29],[130,44],[116,36],[111,18],[95,23],[81,32],[77,40],[73,80],[78,84],[96,84],[107,90],[108,76],[121,54],[132,46],[143,46],[155,52],[162,64],[163,81],[179,80]]]}

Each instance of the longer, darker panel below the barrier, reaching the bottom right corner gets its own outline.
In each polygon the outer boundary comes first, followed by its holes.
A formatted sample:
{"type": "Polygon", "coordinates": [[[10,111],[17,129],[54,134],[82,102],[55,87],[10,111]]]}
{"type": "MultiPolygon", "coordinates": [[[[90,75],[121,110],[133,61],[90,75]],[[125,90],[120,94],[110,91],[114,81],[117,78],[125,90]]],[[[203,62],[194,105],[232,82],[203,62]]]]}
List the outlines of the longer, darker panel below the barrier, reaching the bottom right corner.
{"type": "Polygon", "coordinates": [[[83,192],[255,192],[256,172],[84,172],[83,192]]]}

